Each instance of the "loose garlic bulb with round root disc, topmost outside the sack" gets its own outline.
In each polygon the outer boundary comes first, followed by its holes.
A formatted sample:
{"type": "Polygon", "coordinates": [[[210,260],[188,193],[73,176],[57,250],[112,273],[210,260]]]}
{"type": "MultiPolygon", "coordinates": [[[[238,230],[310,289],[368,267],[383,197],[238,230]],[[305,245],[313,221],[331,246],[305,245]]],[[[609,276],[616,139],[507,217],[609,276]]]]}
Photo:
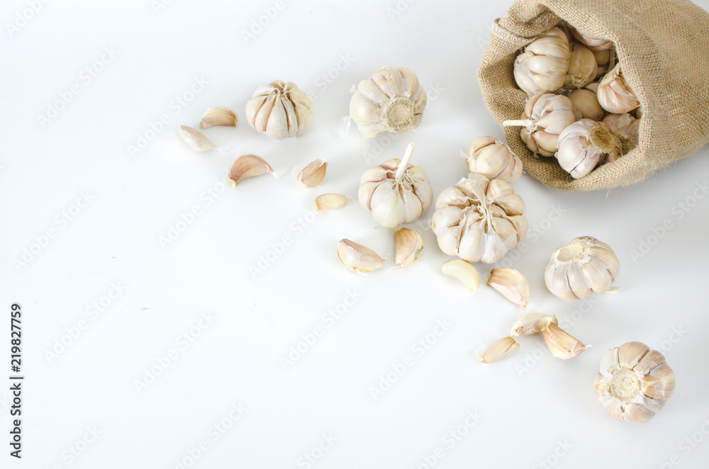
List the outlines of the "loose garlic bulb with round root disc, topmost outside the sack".
{"type": "Polygon", "coordinates": [[[365,137],[415,129],[425,108],[423,86],[404,67],[376,69],[372,77],[359,82],[350,100],[350,116],[365,137]]]}

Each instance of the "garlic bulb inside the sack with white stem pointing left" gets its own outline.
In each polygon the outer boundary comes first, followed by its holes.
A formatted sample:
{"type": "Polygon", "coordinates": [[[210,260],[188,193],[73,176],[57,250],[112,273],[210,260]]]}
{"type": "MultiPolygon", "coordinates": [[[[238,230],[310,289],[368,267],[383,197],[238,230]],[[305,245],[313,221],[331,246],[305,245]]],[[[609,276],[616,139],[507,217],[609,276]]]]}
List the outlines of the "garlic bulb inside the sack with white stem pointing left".
{"type": "Polygon", "coordinates": [[[566,96],[535,94],[525,104],[520,120],[505,120],[502,125],[522,125],[520,137],[532,152],[553,157],[557,152],[559,133],[581,118],[576,115],[574,104],[566,96]]]}

